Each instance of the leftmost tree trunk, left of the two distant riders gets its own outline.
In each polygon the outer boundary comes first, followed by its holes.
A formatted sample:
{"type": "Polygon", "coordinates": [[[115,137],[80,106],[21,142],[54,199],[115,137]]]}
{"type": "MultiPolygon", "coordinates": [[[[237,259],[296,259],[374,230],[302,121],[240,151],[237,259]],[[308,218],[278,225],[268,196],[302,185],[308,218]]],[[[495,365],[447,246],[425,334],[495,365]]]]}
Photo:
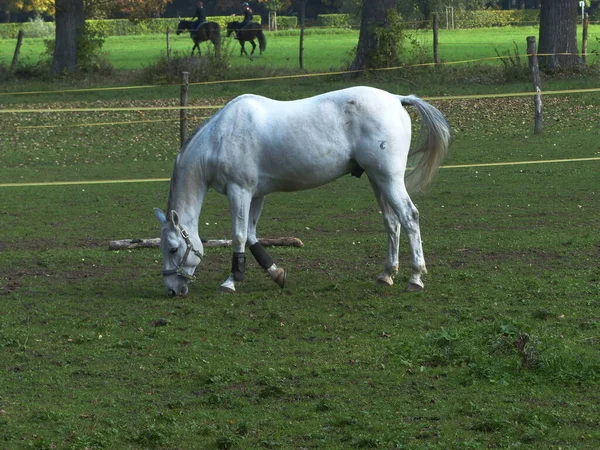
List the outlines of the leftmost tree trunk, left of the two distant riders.
{"type": "Polygon", "coordinates": [[[74,72],[77,68],[77,41],[85,26],[83,0],[56,0],[56,34],[50,71],[74,72]]]}

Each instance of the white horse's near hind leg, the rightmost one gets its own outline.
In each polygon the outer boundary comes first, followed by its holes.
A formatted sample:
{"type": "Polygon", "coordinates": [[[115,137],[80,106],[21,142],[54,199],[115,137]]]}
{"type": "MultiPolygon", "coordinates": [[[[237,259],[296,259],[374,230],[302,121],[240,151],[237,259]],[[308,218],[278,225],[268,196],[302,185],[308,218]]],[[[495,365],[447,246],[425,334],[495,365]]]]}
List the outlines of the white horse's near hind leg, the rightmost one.
{"type": "MultiPolygon", "coordinates": [[[[425,267],[425,258],[423,257],[423,244],[421,242],[421,230],[419,228],[419,211],[410,199],[408,192],[406,192],[403,179],[394,179],[390,177],[385,182],[377,183],[377,187],[381,191],[383,199],[389,204],[398,217],[398,220],[408,237],[412,275],[408,280],[406,290],[421,291],[424,287],[421,275],[427,273],[427,268],[425,267]]],[[[388,262],[389,261],[390,259],[388,257],[388,262]]]]}

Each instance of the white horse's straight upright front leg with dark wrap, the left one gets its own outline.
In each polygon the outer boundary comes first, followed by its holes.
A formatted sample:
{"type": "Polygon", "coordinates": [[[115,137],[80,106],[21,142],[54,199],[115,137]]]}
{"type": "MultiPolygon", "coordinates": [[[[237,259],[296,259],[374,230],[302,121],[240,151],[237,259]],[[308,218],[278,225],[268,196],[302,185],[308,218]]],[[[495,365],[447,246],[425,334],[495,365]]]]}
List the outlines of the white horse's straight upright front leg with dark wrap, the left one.
{"type": "Polygon", "coordinates": [[[248,239],[248,216],[252,195],[238,185],[227,186],[229,214],[231,215],[231,245],[233,257],[231,273],[221,284],[220,291],[235,292],[235,282],[246,278],[246,241],[248,239]]]}

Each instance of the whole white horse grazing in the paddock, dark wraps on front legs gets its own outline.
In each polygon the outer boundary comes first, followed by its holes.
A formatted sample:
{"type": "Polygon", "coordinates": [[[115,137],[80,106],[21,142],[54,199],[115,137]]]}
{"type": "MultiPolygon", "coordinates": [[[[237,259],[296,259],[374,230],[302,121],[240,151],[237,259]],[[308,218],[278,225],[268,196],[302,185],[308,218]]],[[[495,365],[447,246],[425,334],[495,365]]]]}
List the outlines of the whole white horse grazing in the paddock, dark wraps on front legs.
{"type": "Polygon", "coordinates": [[[383,212],[388,252],[377,282],[392,285],[398,271],[400,227],[408,236],[412,274],[407,290],[423,289],[426,273],[419,213],[405,185],[423,188],[446,156],[450,128],[436,108],[415,96],[353,87],[294,101],[246,94],[235,98],[188,139],[175,161],[167,214],[161,224],[163,277],[170,295],[186,295],[204,250],[198,236],[209,187],[226,195],[232,222],[232,269],[220,290],[234,292],[245,277],[245,247],[283,287],[285,270],[258,242],[256,226],[265,195],[311,189],[342,175],[366,172],[383,212]],[[411,121],[421,116],[422,144],[410,150],[411,121]],[[411,183],[412,182],[412,183],[411,183]]]}

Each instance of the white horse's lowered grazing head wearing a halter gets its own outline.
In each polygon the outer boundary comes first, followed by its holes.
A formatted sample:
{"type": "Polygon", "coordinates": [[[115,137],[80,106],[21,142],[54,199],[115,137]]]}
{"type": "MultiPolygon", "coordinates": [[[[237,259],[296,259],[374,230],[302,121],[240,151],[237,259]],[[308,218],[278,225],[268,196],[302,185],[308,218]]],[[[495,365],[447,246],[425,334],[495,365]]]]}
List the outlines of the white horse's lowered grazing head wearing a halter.
{"type": "Polygon", "coordinates": [[[160,209],[154,214],[160,222],[160,250],[163,256],[163,278],[167,293],[171,296],[184,296],[188,292],[188,284],[194,281],[194,271],[200,264],[204,254],[202,241],[193,238],[179,222],[176,211],[169,213],[169,218],[160,209]],[[194,241],[194,242],[192,242],[194,241]]]}

